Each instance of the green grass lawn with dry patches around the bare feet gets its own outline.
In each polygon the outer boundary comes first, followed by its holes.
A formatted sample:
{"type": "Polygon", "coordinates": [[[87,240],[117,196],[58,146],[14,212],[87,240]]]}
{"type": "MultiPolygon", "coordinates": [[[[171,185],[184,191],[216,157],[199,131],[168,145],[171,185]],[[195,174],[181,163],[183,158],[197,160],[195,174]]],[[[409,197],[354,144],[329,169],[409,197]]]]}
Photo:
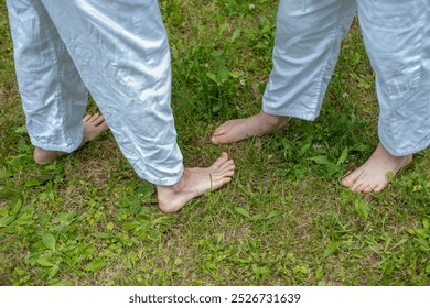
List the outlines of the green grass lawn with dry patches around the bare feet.
{"type": "Polygon", "coordinates": [[[185,165],[226,151],[237,169],[229,185],[175,215],[159,211],[154,187],[110,132],[34,164],[0,2],[0,285],[430,284],[429,151],[380,194],[338,184],[377,144],[374,76],[357,24],[315,122],[209,143],[225,120],[260,111],[277,2],[160,1],[185,165]]]}

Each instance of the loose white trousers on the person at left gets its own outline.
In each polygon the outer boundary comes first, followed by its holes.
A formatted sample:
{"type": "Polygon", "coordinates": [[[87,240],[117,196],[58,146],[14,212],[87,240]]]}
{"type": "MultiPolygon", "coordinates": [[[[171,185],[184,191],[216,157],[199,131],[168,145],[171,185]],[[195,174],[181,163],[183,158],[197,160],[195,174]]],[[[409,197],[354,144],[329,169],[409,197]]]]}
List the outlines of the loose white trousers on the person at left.
{"type": "Polygon", "coordinates": [[[19,90],[33,145],[72,152],[88,91],[136,173],[183,173],[171,59],[157,0],[8,0],[19,90]]]}

